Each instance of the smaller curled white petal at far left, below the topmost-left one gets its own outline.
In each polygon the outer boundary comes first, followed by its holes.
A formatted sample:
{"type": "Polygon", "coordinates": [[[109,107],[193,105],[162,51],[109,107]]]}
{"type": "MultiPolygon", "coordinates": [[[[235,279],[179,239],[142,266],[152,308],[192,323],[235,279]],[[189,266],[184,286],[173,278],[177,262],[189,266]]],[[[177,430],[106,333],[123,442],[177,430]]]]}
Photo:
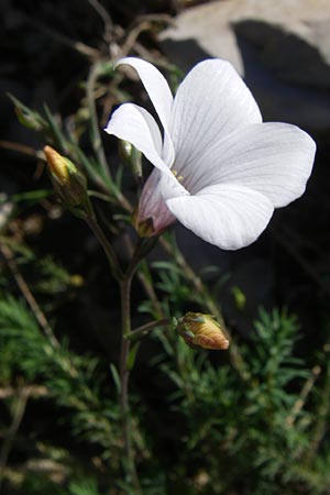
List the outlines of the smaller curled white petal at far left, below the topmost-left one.
{"type": "Polygon", "coordinates": [[[154,118],[143,108],[133,103],[121,105],[111,116],[105,131],[120,140],[129,141],[155,167],[173,176],[161,158],[162,136],[154,118]]]}

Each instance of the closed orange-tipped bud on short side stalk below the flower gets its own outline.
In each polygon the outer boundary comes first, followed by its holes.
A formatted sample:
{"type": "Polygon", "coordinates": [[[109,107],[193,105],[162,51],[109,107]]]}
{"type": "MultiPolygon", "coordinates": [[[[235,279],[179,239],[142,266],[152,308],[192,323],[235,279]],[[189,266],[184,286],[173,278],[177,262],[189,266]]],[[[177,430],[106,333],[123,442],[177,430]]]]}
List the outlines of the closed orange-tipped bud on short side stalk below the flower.
{"type": "Polygon", "coordinates": [[[177,332],[191,348],[226,350],[229,341],[220,324],[210,315],[187,312],[177,321],[177,332]]]}

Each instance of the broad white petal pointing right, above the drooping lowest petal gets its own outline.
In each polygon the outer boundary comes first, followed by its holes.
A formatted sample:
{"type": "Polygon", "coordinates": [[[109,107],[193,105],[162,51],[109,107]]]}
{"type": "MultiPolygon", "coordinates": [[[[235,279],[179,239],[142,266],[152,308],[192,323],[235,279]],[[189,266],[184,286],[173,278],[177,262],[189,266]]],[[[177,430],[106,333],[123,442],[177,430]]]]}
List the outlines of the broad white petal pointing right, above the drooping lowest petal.
{"type": "Polygon", "coordinates": [[[275,208],[302,195],[316,144],[295,125],[252,124],[239,129],[190,164],[185,186],[195,193],[211,184],[232,183],[265,195],[275,208]]]}

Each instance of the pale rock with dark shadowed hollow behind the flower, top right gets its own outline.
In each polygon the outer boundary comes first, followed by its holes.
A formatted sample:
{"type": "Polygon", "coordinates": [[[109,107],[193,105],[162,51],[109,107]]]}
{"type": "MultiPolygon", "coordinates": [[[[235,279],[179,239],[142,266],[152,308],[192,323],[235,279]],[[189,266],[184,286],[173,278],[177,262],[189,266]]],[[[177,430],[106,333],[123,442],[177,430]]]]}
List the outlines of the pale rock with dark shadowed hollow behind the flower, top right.
{"type": "Polygon", "coordinates": [[[161,40],[184,70],[202,58],[229,59],[265,120],[330,130],[328,0],[215,1],[184,11],[161,40]]]}

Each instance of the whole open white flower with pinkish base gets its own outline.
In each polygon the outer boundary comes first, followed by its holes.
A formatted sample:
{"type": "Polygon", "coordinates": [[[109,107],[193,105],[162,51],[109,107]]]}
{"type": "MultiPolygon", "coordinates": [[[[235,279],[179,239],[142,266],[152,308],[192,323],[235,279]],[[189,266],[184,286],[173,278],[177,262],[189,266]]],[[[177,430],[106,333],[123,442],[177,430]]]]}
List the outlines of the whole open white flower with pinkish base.
{"type": "Polygon", "coordinates": [[[133,57],[119,64],[138,72],[163,127],[162,138],[145,109],[123,103],[106,128],[156,167],[136,217],[146,235],[177,219],[205,241],[235,250],[257,239],[274,208],[304,194],[315,142],[295,125],[263,123],[228,62],[197,64],[175,98],[152,64],[133,57]]]}

